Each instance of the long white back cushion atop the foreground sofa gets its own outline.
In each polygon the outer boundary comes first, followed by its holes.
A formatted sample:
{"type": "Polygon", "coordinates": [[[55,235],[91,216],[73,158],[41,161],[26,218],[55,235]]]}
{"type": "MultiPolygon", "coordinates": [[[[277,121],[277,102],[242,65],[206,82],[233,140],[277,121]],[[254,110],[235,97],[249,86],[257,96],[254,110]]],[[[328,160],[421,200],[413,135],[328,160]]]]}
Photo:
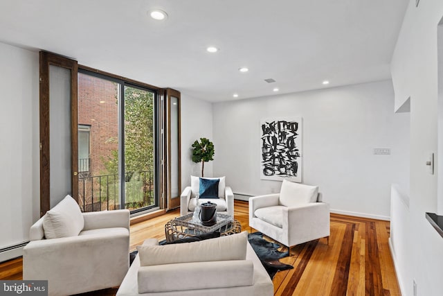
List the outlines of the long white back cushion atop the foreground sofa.
{"type": "Polygon", "coordinates": [[[141,245],[137,247],[141,266],[226,261],[246,259],[248,233],[242,232],[230,236],[179,243],[176,245],[141,245]],[[173,254],[173,256],[172,256],[173,254]]]}

